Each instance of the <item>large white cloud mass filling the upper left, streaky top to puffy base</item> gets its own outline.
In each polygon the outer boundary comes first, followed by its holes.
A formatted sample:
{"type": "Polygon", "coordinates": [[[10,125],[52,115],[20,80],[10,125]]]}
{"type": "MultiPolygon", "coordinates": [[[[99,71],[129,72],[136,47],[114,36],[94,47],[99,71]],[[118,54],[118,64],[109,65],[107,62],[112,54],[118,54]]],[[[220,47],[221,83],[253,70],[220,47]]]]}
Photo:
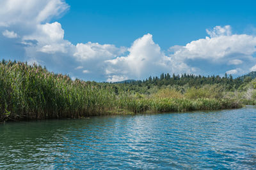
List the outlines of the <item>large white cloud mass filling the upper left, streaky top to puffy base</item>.
{"type": "Polygon", "coordinates": [[[0,6],[0,31],[8,30],[3,32],[4,36],[12,36],[13,39],[4,43],[2,48],[10,48],[10,51],[15,49],[16,56],[22,56],[15,59],[51,66],[51,58],[56,57],[52,54],[68,53],[69,48],[72,48],[63,39],[64,31],[60,23],[48,23],[68,10],[65,1],[4,0],[0,1],[0,6]]]}

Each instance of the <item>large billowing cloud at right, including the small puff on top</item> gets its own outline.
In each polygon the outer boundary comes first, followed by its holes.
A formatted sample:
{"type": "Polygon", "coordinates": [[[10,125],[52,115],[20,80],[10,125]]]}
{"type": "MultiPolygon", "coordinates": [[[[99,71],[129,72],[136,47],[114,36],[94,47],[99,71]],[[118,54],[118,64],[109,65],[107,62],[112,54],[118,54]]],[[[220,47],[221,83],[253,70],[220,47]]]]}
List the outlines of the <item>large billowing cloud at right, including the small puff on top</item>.
{"type": "Polygon", "coordinates": [[[255,64],[253,54],[256,52],[256,37],[247,34],[231,34],[231,27],[216,26],[212,31],[207,30],[211,38],[191,41],[185,46],[169,48],[170,58],[180,65],[194,67],[193,73],[198,74],[241,74],[239,69],[232,68],[239,65],[240,69],[255,64]],[[233,70],[233,71],[231,71],[233,70]],[[236,71],[235,71],[236,70],[236,71]]]}

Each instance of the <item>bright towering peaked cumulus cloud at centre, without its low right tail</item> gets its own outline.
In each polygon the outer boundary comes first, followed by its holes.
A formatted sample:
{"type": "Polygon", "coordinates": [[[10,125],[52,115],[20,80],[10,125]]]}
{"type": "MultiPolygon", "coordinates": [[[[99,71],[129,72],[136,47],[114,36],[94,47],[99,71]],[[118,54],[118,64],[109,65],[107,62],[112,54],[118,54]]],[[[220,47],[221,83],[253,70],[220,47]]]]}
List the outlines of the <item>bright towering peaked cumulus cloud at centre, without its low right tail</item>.
{"type": "Polygon", "coordinates": [[[142,78],[148,76],[150,71],[156,74],[156,72],[159,73],[159,71],[167,69],[164,60],[168,62],[168,59],[161,52],[159,45],[154,43],[151,34],[136,39],[128,51],[129,55],[125,57],[106,61],[108,65],[106,73],[113,73],[109,80],[113,81],[116,77],[124,75],[142,78]]]}

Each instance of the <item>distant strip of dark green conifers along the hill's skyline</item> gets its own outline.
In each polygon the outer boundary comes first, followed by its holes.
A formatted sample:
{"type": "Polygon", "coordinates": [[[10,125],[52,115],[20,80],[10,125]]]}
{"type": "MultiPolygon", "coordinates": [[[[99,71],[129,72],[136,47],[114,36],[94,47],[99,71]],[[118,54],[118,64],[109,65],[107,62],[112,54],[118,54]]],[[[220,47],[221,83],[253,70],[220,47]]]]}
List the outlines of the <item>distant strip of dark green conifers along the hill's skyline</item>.
{"type": "MultiPolygon", "coordinates": [[[[187,87],[203,87],[204,85],[221,85],[224,87],[226,91],[234,91],[234,90],[241,90],[244,85],[252,81],[253,78],[256,77],[256,72],[253,71],[249,74],[246,74],[244,76],[239,76],[237,78],[233,78],[233,76],[230,74],[229,76],[227,73],[225,76],[201,76],[201,75],[195,75],[195,74],[172,74],[172,76],[169,73],[162,73],[159,77],[158,76],[150,76],[146,80],[137,80],[137,81],[122,81],[119,85],[119,89],[132,89],[136,92],[144,93],[145,90],[143,90],[143,87],[146,87],[147,89],[150,89],[152,87],[166,87],[166,86],[187,86],[187,87]],[[122,85],[124,84],[124,85],[122,85]],[[124,86],[124,87],[122,87],[124,86]],[[122,88],[120,88],[122,87],[122,88]]],[[[116,83],[113,83],[116,84],[116,83]]],[[[115,85],[113,85],[115,87],[115,85]]],[[[118,87],[118,86],[116,86],[118,87]]],[[[145,88],[144,88],[145,89],[145,88]]]]}

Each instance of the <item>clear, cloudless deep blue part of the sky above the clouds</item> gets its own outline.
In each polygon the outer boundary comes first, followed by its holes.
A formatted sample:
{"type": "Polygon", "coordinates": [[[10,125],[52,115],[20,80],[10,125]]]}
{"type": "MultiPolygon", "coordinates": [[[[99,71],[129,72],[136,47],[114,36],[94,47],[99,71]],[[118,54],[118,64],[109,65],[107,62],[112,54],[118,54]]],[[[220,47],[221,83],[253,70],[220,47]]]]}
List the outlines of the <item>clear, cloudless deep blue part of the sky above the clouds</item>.
{"type": "Polygon", "coordinates": [[[70,10],[58,22],[72,43],[130,46],[134,39],[150,33],[167,49],[205,38],[205,29],[216,25],[231,25],[234,33],[244,33],[256,24],[255,1],[66,2],[70,10]]]}

